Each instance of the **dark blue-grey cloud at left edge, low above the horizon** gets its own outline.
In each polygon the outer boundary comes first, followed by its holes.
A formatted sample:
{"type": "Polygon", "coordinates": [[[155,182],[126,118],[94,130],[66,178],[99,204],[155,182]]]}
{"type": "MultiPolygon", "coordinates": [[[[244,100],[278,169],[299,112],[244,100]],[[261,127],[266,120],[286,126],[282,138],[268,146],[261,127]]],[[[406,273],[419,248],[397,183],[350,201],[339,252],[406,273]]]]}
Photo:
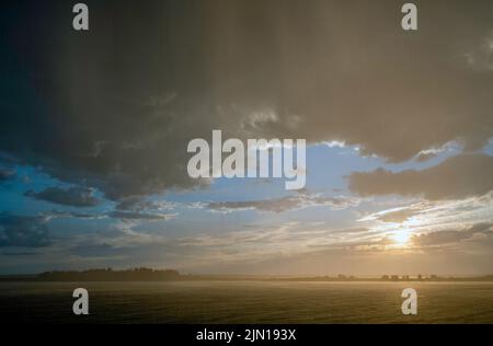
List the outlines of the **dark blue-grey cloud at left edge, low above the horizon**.
{"type": "Polygon", "coordinates": [[[43,247],[51,241],[45,219],[0,215],[0,247],[43,247]]]}

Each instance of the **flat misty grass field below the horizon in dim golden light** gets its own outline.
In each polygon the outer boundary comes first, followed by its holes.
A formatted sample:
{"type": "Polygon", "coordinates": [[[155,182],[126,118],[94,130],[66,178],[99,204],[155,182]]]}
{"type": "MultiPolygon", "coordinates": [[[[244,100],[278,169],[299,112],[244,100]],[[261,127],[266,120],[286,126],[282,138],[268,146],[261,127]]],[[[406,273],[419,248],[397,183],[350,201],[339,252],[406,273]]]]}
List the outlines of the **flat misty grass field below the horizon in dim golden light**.
{"type": "Polygon", "coordinates": [[[50,323],[493,323],[493,282],[1,282],[12,322],[50,323]],[[90,315],[72,314],[72,290],[90,315]],[[401,313],[402,289],[419,295],[401,313]]]}

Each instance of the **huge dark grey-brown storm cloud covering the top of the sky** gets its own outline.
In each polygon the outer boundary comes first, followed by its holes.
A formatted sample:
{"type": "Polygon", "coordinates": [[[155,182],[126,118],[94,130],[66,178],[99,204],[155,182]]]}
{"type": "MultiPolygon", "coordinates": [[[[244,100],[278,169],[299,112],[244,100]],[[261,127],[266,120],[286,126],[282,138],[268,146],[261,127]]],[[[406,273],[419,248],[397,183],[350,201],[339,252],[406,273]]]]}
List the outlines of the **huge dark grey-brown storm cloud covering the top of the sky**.
{"type": "Polygon", "coordinates": [[[186,145],[343,140],[402,161],[493,130],[493,2],[67,1],[2,5],[0,150],[113,199],[194,186],[186,145]]]}

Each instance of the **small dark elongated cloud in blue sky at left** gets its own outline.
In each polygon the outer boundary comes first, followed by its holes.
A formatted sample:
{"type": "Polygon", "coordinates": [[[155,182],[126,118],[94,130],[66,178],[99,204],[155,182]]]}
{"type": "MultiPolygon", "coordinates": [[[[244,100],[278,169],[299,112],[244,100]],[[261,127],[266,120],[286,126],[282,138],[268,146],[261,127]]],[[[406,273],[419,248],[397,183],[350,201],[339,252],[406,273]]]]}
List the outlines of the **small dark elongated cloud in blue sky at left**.
{"type": "Polygon", "coordinates": [[[100,204],[100,200],[94,197],[94,191],[84,187],[48,187],[38,193],[28,191],[24,195],[39,200],[72,207],[94,207],[100,204]]]}

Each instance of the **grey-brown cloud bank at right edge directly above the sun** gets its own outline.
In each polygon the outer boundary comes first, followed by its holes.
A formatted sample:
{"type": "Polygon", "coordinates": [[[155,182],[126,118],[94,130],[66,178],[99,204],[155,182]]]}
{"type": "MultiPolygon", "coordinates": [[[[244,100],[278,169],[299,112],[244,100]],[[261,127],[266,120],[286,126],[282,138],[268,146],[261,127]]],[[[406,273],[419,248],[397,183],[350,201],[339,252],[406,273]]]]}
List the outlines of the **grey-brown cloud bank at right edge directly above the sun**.
{"type": "Polygon", "coordinates": [[[379,169],[349,175],[349,188],[362,196],[423,195],[427,199],[481,196],[493,189],[493,158],[461,154],[423,171],[379,169]]]}

